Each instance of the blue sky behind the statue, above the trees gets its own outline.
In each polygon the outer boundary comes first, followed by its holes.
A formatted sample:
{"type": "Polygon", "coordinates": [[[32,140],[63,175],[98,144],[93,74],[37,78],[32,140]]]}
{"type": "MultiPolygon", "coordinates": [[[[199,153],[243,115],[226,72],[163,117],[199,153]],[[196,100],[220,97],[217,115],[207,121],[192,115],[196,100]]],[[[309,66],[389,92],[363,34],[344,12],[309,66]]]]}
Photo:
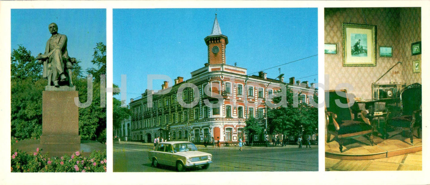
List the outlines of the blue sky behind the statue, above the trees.
{"type": "Polygon", "coordinates": [[[106,44],[106,9],[12,9],[11,50],[22,44],[33,56],[44,53],[52,22],[58,25],[58,33],[67,36],[69,56],[81,61],[86,74],[88,67],[94,67],[96,43],[106,44]]]}

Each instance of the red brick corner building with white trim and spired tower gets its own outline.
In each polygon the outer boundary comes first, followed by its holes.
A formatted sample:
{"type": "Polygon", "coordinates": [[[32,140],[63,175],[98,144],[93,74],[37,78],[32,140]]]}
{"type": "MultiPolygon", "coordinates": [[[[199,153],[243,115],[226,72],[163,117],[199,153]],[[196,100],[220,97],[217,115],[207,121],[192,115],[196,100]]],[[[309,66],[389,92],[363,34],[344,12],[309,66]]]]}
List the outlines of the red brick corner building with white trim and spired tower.
{"type": "MultiPolygon", "coordinates": [[[[300,101],[308,103],[309,96],[313,96],[313,89],[307,82],[295,82],[294,77],[288,83],[284,82],[283,77],[270,79],[264,72],[247,75],[245,68],[227,65],[228,38],[221,33],[216,16],[212,33],[204,41],[208,48],[208,63],[191,72],[190,79],[184,81],[183,77],[178,76],[174,84],[164,82],[160,91],[147,90],[140,98],[131,100],[132,140],[151,143],[155,137],[162,136],[169,140],[203,143],[205,136],[213,136],[215,140],[219,137],[221,143],[237,143],[239,137],[244,135],[248,117],[253,116],[263,124],[265,100],[271,100],[273,92],[280,90],[280,85],[286,84],[293,92],[301,93],[300,101]],[[185,88],[182,92],[184,102],[198,102],[191,108],[184,108],[177,100],[178,89],[185,83],[192,83],[198,88],[198,97],[191,88],[185,88]],[[206,86],[212,93],[221,94],[220,107],[205,105],[205,100],[218,102],[212,94],[208,96],[203,92],[206,86]],[[152,108],[148,107],[148,94],[152,94],[152,108]]],[[[245,137],[249,140],[248,136],[245,137]]],[[[254,141],[262,140],[263,136],[254,136],[254,141]]]]}

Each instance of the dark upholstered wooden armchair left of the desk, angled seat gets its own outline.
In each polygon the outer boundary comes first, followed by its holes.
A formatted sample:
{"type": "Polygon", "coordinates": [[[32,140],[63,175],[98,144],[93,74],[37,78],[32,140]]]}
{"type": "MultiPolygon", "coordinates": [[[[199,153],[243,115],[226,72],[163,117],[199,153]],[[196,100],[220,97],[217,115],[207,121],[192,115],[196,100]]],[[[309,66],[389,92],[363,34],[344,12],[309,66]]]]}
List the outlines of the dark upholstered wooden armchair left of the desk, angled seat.
{"type": "Polygon", "coordinates": [[[365,111],[361,112],[359,118],[353,118],[349,101],[346,98],[347,90],[330,90],[326,93],[330,98],[329,103],[326,102],[327,143],[330,141],[330,134],[333,134],[339,142],[339,150],[343,152],[342,139],[369,135],[370,144],[373,146],[373,127],[369,119],[364,117],[365,111]],[[348,105],[342,108],[336,105],[336,101],[348,105]]]}

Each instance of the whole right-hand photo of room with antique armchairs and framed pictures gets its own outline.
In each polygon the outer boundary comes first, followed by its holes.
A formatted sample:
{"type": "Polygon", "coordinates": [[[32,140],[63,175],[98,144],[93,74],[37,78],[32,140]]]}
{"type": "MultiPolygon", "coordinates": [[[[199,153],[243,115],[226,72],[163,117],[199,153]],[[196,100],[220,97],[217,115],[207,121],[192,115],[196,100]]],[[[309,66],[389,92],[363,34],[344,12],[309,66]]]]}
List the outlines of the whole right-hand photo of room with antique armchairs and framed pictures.
{"type": "Polygon", "coordinates": [[[421,8],[324,16],[326,171],[421,170],[421,8]]]}

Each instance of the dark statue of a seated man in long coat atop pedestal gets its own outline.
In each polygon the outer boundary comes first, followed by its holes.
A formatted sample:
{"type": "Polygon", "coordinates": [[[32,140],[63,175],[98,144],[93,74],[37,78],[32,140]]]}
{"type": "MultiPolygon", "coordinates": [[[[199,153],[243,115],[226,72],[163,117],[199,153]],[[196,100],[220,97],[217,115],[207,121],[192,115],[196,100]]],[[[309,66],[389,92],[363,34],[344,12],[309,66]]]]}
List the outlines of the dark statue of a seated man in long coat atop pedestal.
{"type": "Polygon", "coordinates": [[[48,79],[48,86],[52,83],[55,87],[68,85],[73,87],[71,69],[76,63],[76,58],[70,58],[67,52],[67,36],[58,33],[55,23],[49,24],[51,38],[46,42],[44,54],[39,54],[36,60],[43,64],[43,78],[48,79]],[[67,75],[67,76],[66,76],[67,75]]]}

